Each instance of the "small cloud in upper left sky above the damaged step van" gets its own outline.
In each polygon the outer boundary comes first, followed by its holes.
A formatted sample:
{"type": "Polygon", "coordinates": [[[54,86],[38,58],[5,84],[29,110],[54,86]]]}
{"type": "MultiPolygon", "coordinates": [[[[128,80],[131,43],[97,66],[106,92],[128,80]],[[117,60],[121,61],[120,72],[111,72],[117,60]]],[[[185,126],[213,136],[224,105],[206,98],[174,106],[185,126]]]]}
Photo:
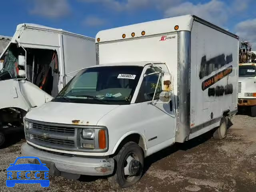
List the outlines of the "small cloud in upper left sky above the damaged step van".
{"type": "Polygon", "coordinates": [[[33,0],[30,2],[32,4],[30,14],[47,18],[61,18],[70,14],[68,0],[33,0]]]}

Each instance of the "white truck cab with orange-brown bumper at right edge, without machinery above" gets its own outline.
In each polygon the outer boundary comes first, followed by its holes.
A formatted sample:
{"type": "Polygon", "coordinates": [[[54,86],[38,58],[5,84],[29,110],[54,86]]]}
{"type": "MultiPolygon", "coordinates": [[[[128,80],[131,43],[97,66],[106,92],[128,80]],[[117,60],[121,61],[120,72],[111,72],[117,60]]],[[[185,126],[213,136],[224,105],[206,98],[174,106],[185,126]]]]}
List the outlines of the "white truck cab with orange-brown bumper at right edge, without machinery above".
{"type": "Polygon", "coordinates": [[[256,63],[239,64],[238,107],[256,117],[256,63]]]}

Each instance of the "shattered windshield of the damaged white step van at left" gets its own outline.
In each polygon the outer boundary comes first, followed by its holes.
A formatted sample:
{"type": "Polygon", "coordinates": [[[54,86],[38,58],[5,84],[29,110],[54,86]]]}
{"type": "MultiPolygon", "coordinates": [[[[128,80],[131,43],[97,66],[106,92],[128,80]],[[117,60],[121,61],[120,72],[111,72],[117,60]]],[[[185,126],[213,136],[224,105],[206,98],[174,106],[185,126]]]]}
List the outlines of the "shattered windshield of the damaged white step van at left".
{"type": "Polygon", "coordinates": [[[18,77],[18,56],[25,55],[24,50],[17,47],[17,44],[10,44],[10,47],[4,54],[4,65],[0,70],[0,80],[14,79],[18,77]]]}

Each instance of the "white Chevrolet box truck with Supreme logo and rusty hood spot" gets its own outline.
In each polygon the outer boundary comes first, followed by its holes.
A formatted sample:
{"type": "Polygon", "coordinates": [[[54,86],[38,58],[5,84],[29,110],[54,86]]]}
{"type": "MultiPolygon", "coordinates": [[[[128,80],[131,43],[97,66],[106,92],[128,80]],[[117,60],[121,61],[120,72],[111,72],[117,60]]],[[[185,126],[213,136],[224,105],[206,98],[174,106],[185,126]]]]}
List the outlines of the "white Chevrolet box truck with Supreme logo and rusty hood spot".
{"type": "Polygon", "coordinates": [[[24,156],[54,175],[109,175],[127,187],[145,157],[210,130],[226,137],[237,111],[238,36],[187,15],[100,31],[96,50],[99,65],[28,112],[24,156]]]}

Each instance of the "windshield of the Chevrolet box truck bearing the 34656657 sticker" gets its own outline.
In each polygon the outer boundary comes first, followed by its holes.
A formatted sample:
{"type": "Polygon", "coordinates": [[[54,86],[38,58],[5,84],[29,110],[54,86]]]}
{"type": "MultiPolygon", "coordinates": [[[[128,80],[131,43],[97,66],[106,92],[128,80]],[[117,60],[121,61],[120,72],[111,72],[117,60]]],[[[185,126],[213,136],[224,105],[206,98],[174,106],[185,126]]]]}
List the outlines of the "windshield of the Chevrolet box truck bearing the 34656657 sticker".
{"type": "Polygon", "coordinates": [[[79,72],[53,102],[130,104],[142,73],[140,66],[103,66],[79,72]]]}

